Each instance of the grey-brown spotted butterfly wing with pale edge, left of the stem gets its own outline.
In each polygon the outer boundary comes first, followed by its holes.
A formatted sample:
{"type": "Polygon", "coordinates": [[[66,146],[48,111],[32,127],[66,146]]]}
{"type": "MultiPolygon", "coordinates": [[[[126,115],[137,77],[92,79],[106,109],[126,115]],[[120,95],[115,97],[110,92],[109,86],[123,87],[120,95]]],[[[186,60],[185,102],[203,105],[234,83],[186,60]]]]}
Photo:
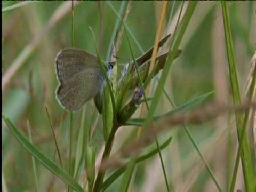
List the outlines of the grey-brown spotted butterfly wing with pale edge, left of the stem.
{"type": "Polygon", "coordinates": [[[98,58],[81,49],[63,49],[55,59],[59,81],[56,97],[70,111],[80,109],[102,88],[103,75],[98,58]]]}

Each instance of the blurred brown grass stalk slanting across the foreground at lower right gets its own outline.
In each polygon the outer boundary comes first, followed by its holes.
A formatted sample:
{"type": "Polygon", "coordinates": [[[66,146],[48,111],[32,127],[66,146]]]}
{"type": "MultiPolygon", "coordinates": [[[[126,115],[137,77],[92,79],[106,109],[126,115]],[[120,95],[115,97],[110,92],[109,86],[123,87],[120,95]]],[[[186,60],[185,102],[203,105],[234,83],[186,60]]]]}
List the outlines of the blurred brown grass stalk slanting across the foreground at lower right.
{"type": "MultiPolygon", "coordinates": [[[[249,107],[256,108],[256,103],[245,103],[235,110],[244,111],[249,107]]],[[[124,159],[131,156],[138,156],[141,150],[148,146],[155,140],[155,135],[162,132],[165,129],[172,129],[174,126],[183,124],[202,124],[217,116],[220,116],[228,111],[233,111],[234,107],[230,105],[211,103],[207,106],[197,108],[187,113],[177,113],[171,117],[162,118],[159,121],[150,124],[145,131],[145,134],[136,141],[131,142],[130,145],[125,147],[122,151],[111,156],[105,162],[102,162],[100,170],[107,170],[114,167],[120,167],[124,165],[124,159]]]]}

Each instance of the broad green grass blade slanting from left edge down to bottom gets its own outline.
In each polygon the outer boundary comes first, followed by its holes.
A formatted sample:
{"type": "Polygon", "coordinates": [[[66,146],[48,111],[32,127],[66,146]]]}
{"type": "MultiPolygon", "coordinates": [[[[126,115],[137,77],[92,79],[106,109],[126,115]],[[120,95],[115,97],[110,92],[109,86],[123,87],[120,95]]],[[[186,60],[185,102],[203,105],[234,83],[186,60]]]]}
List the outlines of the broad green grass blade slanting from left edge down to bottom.
{"type": "Polygon", "coordinates": [[[38,150],[34,145],[32,145],[29,140],[20,132],[20,130],[7,118],[4,114],[2,117],[9,127],[10,131],[20,143],[20,145],[28,151],[33,157],[37,159],[42,165],[46,167],[49,171],[57,175],[62,181],[64,181],[68,186],[76,191],[83,191],[83,188],[73,179],[70,175],[63,171],[57,164],[55,164],[49,157],[44,155],[40,150],[38,150]]]}

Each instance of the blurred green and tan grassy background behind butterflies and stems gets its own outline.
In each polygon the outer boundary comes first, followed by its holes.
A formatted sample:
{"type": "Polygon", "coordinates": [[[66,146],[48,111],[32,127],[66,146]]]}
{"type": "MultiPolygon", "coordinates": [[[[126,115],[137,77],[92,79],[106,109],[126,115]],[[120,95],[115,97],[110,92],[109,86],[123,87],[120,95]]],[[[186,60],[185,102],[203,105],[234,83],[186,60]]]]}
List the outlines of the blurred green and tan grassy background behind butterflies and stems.
{"type": "MultiPolygon", "coordinates": [[[[2,1],[2,9],[16,3],[2,1]]],[[[106,54],[111,44],[110,38],[113,33],[116,33],[113,29],[118,19],[109,5],[118,11],[121,3],[116,1],[76,2],[75,47],[95,54],[90,26],[97,43],[102,41],[100,47],[102,58],[108,58],[106,54]]],[[[170,1],[167,5],[165,31],[171,30],[166,27],[173,3],[170,1]]],[[[174,18],[179,14],[181,3],[175,2],[174,18]]],[[[227,4],[238,81],[241,95],[243,95],[255,51],[255,2],[228,2],[227,4]]],[[[154,45],[161,9],[161,2],[134,1],[131,3],[126,24],[143,51],[147,51],[154,45]]],[[[119,30],[121,27],[118,28],[119,30]]],[[[135,57],[139,57],[142,52],[133,40],[131,43],[135,57]]],[[[36,1],[17,9],[2,11],[2,113],[9,117],[25,135],[28,135],[28,119],[34,145],[52,159],[55,146],[45,106],[49,110],[57,133],[64,110],[55,99],[58,81],[55,76],[54,59],[65,47],[71,47],[71,2],[36,1]]],[[[165,85],[177,106],[213,90],[215,93],[209,101],[231,102],[220,2],[197,4],[180,49],[183,51],[180,57],[174,60],[165,85]]],[[[117,56],[124,58],[118,60],[120,63],[126,63],[131,58],[125,35],[122,37],[117,56]]],[[[88,102],[86,106],[94,107],[93,101],[88,102]]],[[[157,113],[163,114],[171,109],[169,101],[163,95],[157,113]]],[[[67,112],[64,114],[60,147],[67,164],[69,116],[67,112]]],[[[134,117],[139,117],[139,114],[140,108],[134,117]]],[[[232,157],[236,154],[237,148],[235,129],[228,132],[228,128],[233,126],[233,118],[227,117],[222,116],[216,121],[206,122],[201,126],[190,126],[191,132],[224,190],[227,190],[228,171],[230,171],[227,166],[226,149],[228,134],[231,134],[231,142],[234,143],[232,157]]],[[[79,131],[81,111],[75,113],[74,118],[76,136],[79,131]]],[[[98,148],[97,154],[103,145],[101,121],[100,117],[93,141],[98,148]]],[[[134,129],[136,128],[121,127],[118,130],[113,151],[123,145],[125,138],[129,137],[134,129]]],[[[163,150],[171,191],[217,191],[182,127],[160,134],[159,140],[164,141],[171,135],[173,140],[170,146],[163,150]]],[[[231,165],[233,164],[232,160],[231,165]]],[[[53,175],[41,164],[36,165],[40,191],[65,191],[65,185],[61,180],[55,178],[53,184],[49,179],[53,175]]],[[[31,156],[19,145],[2,120],[2,177],[8,191],[34,191],[33,174],[31,156]]],[[[238,174],[236,189],[243,189],[241,172],[238,174]]],[[[118,187],[118,180],[109,188],[109,191],[117,189],[116,187],[118,187]]],[[[158,155],[139,164],[133,191],[166,191],[158,155]]]]}

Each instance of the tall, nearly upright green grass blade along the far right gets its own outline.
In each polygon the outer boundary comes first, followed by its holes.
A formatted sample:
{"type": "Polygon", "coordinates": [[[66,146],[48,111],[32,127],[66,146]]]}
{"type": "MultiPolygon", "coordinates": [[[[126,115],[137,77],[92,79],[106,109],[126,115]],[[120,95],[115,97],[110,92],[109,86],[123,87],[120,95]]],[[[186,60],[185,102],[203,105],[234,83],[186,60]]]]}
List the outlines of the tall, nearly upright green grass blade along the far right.
{"type": "MultiPolygon", "coordinates": [[[[241,99],[239,94],[239,85],[236,73],[236,64],[235,64],[235,55],[234,55],[234,47],[233,47],[233,40],[231,36],[231,28],[230,28],[230,21],[227,9],[227,2],[221,2],[222,7],[222,17],[225,29],[225,38],[226,38],[226,46],[227,46],[227,55],[228,55],[228,65],[229,65],[229,76],[230,76],[230,83],[231,83],[231,91],[233,95],[233,102],[235,106],[241,105],[241,99]]],[[[238,134],[238,142],[239,146],[242,146],[242,151],[236,157],[236,163],[234,167],[233,179],[231,181],[230,191],[234,191],[235,189],[235,182],[238,172],[238,165],[239,165],[239,158],[241,156],[242,159],[242,166],[243,166],[243,176],[245,182],[245,189],[246,191],[253,191],[255,188],[255,180],[253,175],[253,166],[252,166],[252,159],[250,154],[249,143],[246,138],[246,134],[242,134],[243,132],[243,124],[246,124],[243,115],[235,111],[236,116],[236,126],[237,126],[237,134],[238,134]],[[242,138],[243,136],[243,138],[242,138]]],[[[245,129],[246,126],[244,126],[245,129]]]]}

